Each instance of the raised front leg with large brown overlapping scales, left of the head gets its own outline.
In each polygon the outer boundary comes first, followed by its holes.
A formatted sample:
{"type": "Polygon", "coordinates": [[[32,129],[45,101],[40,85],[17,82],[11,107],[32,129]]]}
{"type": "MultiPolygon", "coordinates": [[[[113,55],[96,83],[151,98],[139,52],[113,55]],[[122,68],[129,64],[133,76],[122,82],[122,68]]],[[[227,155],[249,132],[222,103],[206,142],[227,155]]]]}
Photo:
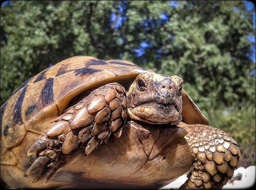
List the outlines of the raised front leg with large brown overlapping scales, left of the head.
{"type": "Polygon", "coordinates": [[[66,109],[30,147],[28,156],[37,159],[26,171],[42,169],[31,181],[47,185],[68,163],[89,155],[110,135],[120,137],[127,118],[126,91],[118,83],[104,85],[66,109]]]}

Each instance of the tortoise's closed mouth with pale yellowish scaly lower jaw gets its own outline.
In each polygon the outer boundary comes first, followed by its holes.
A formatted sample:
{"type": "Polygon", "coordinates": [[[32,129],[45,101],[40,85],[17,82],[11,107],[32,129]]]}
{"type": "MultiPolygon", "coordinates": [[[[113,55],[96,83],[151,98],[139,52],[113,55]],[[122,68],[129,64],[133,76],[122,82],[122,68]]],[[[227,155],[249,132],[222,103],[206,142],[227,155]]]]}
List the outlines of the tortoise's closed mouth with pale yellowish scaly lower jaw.
{"type": "Polygon", "coordinates": [[[157,102],[147,102],[137,107],[129,107],[129,112],[137,116],[139,120],[153,124],[177,125],[182,116],[174,104],[161,104],[157,102]]]}

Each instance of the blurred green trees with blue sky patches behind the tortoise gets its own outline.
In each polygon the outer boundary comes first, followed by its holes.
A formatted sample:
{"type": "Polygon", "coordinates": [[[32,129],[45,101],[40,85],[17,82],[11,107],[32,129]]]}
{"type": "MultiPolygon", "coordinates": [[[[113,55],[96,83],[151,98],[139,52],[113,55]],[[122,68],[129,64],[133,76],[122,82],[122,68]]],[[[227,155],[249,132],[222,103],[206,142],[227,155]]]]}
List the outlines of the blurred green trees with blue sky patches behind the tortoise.
{"type": "Polygon", "coordinates": [[[255,165],[255,6],[250,1],[5,1],[1,105],[76,55],[125,59],[184,79],[214,126],[255,165]]]}

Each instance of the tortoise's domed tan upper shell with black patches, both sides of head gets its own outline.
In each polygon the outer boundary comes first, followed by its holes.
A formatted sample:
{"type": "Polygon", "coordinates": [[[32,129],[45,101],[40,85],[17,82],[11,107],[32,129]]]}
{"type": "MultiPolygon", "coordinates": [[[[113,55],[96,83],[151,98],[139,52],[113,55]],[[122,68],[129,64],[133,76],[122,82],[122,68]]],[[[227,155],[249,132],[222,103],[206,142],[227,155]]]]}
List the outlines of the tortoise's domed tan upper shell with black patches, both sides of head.
{"type": "MultiPolygon", "coordinates": [[[[1,107],[1,147],[20,144],[27,131],[41,134],[51,126],[80,93],[119,82],[127,89],[141,72],[152,72],[124,60],[100,60],[75,56],[63,60],[29,78],[1,107]]],[[[208,124],[185,90],[183,122],[208,124]]]]}

